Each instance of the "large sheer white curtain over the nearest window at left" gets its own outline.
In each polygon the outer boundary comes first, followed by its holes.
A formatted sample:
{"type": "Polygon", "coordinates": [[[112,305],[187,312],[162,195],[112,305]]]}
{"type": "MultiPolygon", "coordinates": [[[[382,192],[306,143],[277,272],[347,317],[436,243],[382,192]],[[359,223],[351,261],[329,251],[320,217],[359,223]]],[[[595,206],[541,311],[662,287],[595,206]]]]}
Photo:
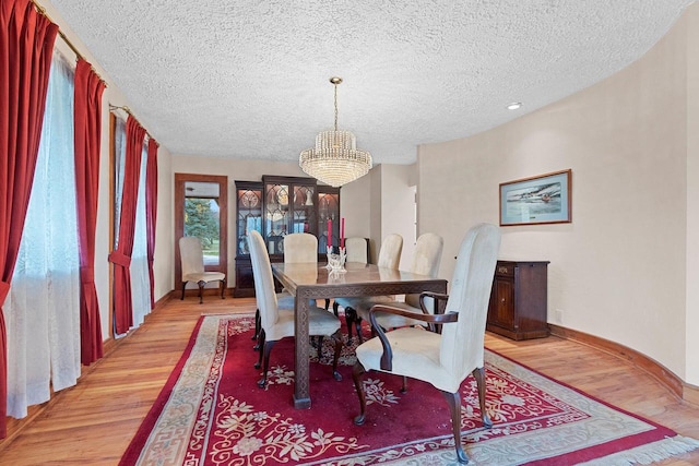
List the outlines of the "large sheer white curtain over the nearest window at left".
{"type": "Polygon", "coordinates": [[[25,417],[80,377],[80,275],[73,154],[73,70],[54,55],[32,196],[3,306],[8,415],[25,417]]]}

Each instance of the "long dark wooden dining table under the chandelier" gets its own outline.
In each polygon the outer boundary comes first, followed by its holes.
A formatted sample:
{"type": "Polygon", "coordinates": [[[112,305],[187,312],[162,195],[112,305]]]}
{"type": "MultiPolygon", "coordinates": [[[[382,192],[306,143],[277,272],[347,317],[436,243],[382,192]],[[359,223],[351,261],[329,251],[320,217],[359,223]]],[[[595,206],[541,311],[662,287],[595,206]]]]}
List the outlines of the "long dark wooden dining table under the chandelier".
{"type": "Polygon", "coordinates": [[[310,300],[335,297],[447,292],[447,280],[374,264],[347,262],[344,273],[329,271],[322,263],[273,263],[272,273],[295,296],[294,407],[310,408],[308,307],[310,300]]]}

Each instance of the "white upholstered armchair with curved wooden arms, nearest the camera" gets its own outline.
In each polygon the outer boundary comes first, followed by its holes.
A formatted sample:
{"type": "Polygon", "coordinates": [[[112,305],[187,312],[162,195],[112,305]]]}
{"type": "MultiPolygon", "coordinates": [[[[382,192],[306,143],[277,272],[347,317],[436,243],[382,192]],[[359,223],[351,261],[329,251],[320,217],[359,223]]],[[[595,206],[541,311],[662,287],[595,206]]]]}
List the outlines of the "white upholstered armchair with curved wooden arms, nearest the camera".
{"type": "MultiPolygon", "coordinates": [[[[354,423],[366,421],[366,392],[362,377],[379,371],[427,382],[441,391],[451,411],[452,433],[459,463],[469,463],[461,444],[461,383],[473,374],[478,391],[481,419],[493,427],[485,406],[484,339],[490,288],[495,274],[500,231],[495,225],[479,224],[471,228],[461,243],[449,295],[423,292],[423,314],[404,309],[377,304],[369,311],[369,320],[377,336],[356,349],[357,362],[352,378],[359,397],[359,415],[354,423]],[[445,313],[429,314],[424,298],[446,300],[445,313]],[[428,328],[405,326],[384,332],[377,322],[379,313],[418,319],[428,328]],[[437,330],[437,328],[435,328],[437,330]],[[400,348],[400,349],[399,349],[400,348]]],[[[403,398],[407,401],[407,398],[403,398]]]]}

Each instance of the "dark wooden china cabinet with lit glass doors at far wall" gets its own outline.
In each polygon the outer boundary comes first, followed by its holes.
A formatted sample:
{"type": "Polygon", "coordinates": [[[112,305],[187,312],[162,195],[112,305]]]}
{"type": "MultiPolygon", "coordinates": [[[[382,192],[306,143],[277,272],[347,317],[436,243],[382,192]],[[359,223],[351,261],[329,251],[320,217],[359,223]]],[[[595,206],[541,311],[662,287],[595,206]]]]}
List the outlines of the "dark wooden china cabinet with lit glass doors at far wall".
{"type": "MultiPolygon", "coordinates": [[[[317,184],[315,178],[265,175],[262,181],[236,181],[235,297],[254,296],[247,235],[256,229],[264,238],[272,262],[284,261],[284,237],[309,232],[318,238],[324,260],[330,227],[331,243],[340,240],[340,189],[317,184]],[[330,223],[328,223],[330,220],[330,223]]],[[[322,256],[322,258],[320,258],[322,256]]]]}

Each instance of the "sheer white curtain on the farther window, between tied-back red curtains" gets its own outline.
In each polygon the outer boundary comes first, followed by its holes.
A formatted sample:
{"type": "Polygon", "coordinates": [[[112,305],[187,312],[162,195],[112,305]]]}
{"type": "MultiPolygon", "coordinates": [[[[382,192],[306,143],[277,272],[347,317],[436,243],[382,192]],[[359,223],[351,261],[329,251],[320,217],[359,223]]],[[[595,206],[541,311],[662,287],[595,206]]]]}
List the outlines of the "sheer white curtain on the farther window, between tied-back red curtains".
{"type": "MultiPolygon", "coordinates": [[[[115,249],[119,243],[119,223],[121,198],[125,183],[126,164],[126,123],[117,118],[115,134],[115,249]]],[[[133,303],[133,326],[138,327],[151,312],[151,285],[147,262],[147,237],[145,230],[145,169],[147,165],[147,144],[143,144],[139,175],[139,194],[135,206],[135,229],[133,231],[133,251],[131,252],[131,302],[133,303]]]]}

